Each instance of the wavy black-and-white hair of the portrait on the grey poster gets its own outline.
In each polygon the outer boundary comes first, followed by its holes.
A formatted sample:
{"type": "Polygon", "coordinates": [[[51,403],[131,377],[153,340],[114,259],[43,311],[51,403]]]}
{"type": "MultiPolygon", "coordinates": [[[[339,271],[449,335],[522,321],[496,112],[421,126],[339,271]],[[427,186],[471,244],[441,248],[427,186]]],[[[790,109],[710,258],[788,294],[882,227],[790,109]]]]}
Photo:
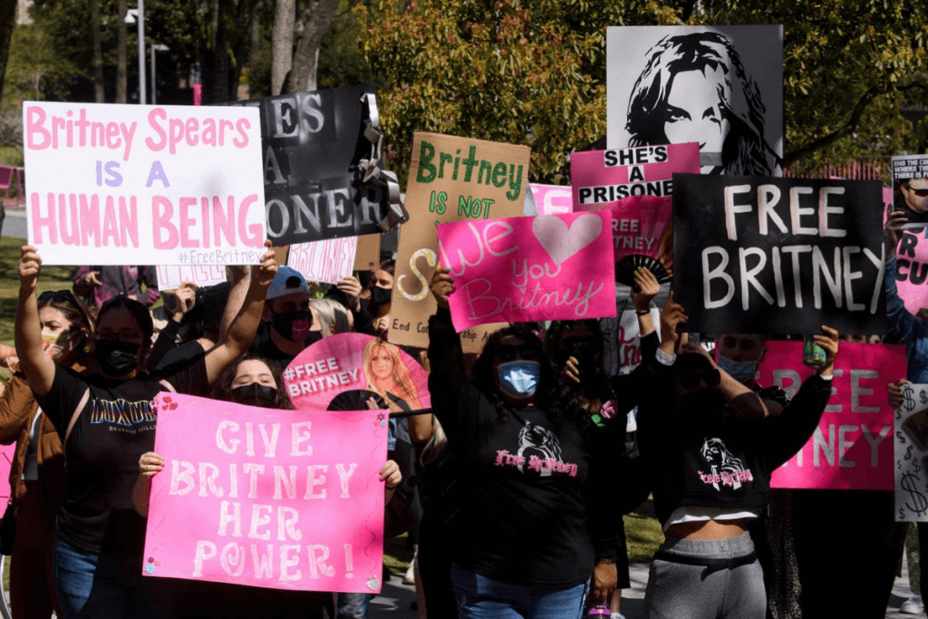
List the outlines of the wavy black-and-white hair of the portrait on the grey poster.
{"type": "Polygon", "coordinates": [[[781,165],[764,137],[766,108],[760,89],[744,71],[741,57],[728,38],[718,32],[665,36],[648,50],[648,62],[628,99],[625,130],[629,147],[666,144],[664,115],[674,78],[685,71],[721,71],[718,104],[731,129],[722,146],[721,174],[769,176],[781,165]]]}

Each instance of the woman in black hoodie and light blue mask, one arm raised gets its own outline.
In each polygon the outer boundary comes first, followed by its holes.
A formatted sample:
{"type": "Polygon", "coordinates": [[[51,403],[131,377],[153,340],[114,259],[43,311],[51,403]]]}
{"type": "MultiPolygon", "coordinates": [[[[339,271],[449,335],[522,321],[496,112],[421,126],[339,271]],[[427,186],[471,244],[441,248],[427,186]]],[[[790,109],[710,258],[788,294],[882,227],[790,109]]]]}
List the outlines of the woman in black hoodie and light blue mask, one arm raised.
{"type": "Polygon", "coordinates": [[[587,592],[607,600],[616,583],[615,519],[597,503],[604,467],[578,423],[588,413],[518,325],[490,336],[467,380],[446,269],[431,288],[432,410],[468,468],[450,552],[460,615],[579,618],[587,592]]]}

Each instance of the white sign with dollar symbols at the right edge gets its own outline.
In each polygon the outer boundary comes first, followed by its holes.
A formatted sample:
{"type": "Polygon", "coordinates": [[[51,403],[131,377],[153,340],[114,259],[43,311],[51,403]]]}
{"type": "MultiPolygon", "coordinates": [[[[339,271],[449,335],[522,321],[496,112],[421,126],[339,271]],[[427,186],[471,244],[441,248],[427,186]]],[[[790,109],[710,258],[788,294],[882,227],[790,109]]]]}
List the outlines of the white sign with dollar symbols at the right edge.
{"type": "Polygon", "coordinates": [[[928,385],[904,385],[894,419],[896,522],[928,522],[928,385]]]}

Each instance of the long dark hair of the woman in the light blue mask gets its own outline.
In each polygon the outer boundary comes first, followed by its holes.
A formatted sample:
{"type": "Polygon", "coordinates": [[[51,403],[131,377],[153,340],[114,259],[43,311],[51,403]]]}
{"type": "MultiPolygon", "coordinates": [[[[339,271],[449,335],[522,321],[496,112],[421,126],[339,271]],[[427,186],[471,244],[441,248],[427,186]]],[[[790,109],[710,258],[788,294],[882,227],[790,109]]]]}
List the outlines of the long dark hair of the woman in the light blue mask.
{"type": "Polygon", "coordinates": [[[568,394],[551,364],[548,351],[529,325],[514,324],[506,329],[500,329],[487,338],[483,345],[483,352],[473,366],[473,382],[481,392],[496,406],[496,414],[500,421],[509,419],[511,406],[499,395],[496,388],[496,357],[500,346],[507,337],[513,336],[525,342],[535,351],[535,359],[541,365],[541,377],[538,380],[538,389],[535,391],[535,406],[544,411],[555,423],[562,417],[563,408],[568,401],[568,394]]]}

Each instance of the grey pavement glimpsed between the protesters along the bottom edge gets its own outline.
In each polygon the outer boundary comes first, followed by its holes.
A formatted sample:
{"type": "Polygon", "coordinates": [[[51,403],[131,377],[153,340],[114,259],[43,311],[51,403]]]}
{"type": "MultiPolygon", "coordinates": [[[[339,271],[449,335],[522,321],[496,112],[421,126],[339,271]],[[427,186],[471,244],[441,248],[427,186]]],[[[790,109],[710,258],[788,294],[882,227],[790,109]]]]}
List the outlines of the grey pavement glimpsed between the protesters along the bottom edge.
{"type": "MultiPolygon", "coordinates": [[[[648,584],[648,563],[633,563],[629,566],[632,587],[622,591],[622,613],[625,619],[641,619],[644,603],[644,589],[648,584]]],[[[899,606],[911,596],[909,589],[909,570],[906,562],[902,563],[902,576],[896,578],[893,594],[886,608],[887,619],[916,619],[919,615],[899,613],[899,606]]],[[[419,614],[409,609],[416,601],[416,590],[411,585],[403,584],[400,574],[393,574],[389,583],[385,583],[380,595],[370,603],[367,619],[418,619],[419,614]]],[[[925,615],[921,615],[924,617],[925,615]]],[[[448,619],[431,617],[430,619],[448,619]]]]}

